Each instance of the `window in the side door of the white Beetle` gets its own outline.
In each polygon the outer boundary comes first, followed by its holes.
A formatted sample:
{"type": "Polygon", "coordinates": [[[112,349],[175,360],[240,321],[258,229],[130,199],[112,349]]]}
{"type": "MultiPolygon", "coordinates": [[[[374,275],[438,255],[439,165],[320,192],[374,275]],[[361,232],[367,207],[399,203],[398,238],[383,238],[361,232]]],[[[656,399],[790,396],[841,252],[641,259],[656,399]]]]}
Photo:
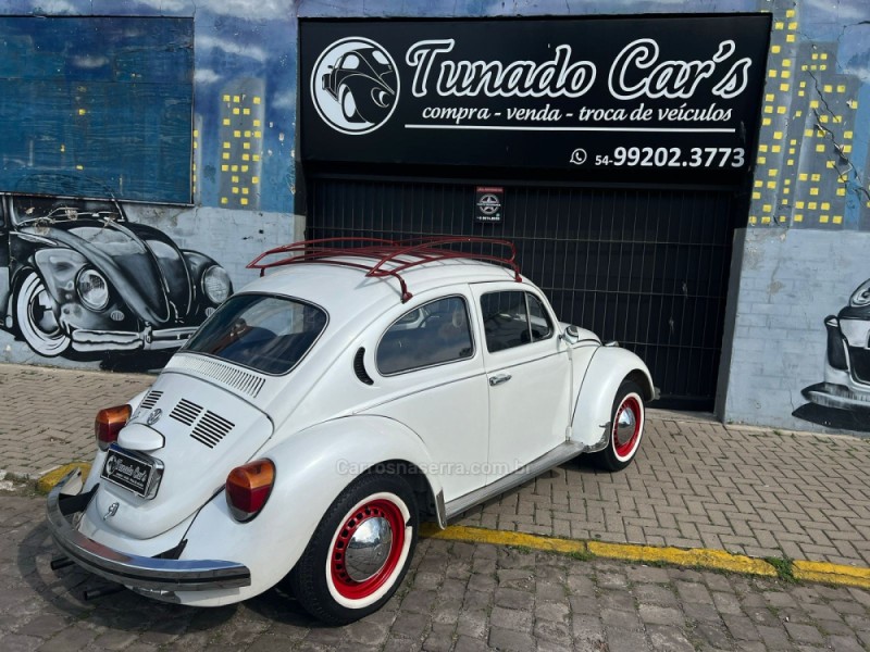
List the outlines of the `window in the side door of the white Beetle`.
{"type": "Polygon", "coordinates": [[[510,290],[481,297],[486,349],[493,353],[549,338],[552,324],[540,301],[510,290]]]}

